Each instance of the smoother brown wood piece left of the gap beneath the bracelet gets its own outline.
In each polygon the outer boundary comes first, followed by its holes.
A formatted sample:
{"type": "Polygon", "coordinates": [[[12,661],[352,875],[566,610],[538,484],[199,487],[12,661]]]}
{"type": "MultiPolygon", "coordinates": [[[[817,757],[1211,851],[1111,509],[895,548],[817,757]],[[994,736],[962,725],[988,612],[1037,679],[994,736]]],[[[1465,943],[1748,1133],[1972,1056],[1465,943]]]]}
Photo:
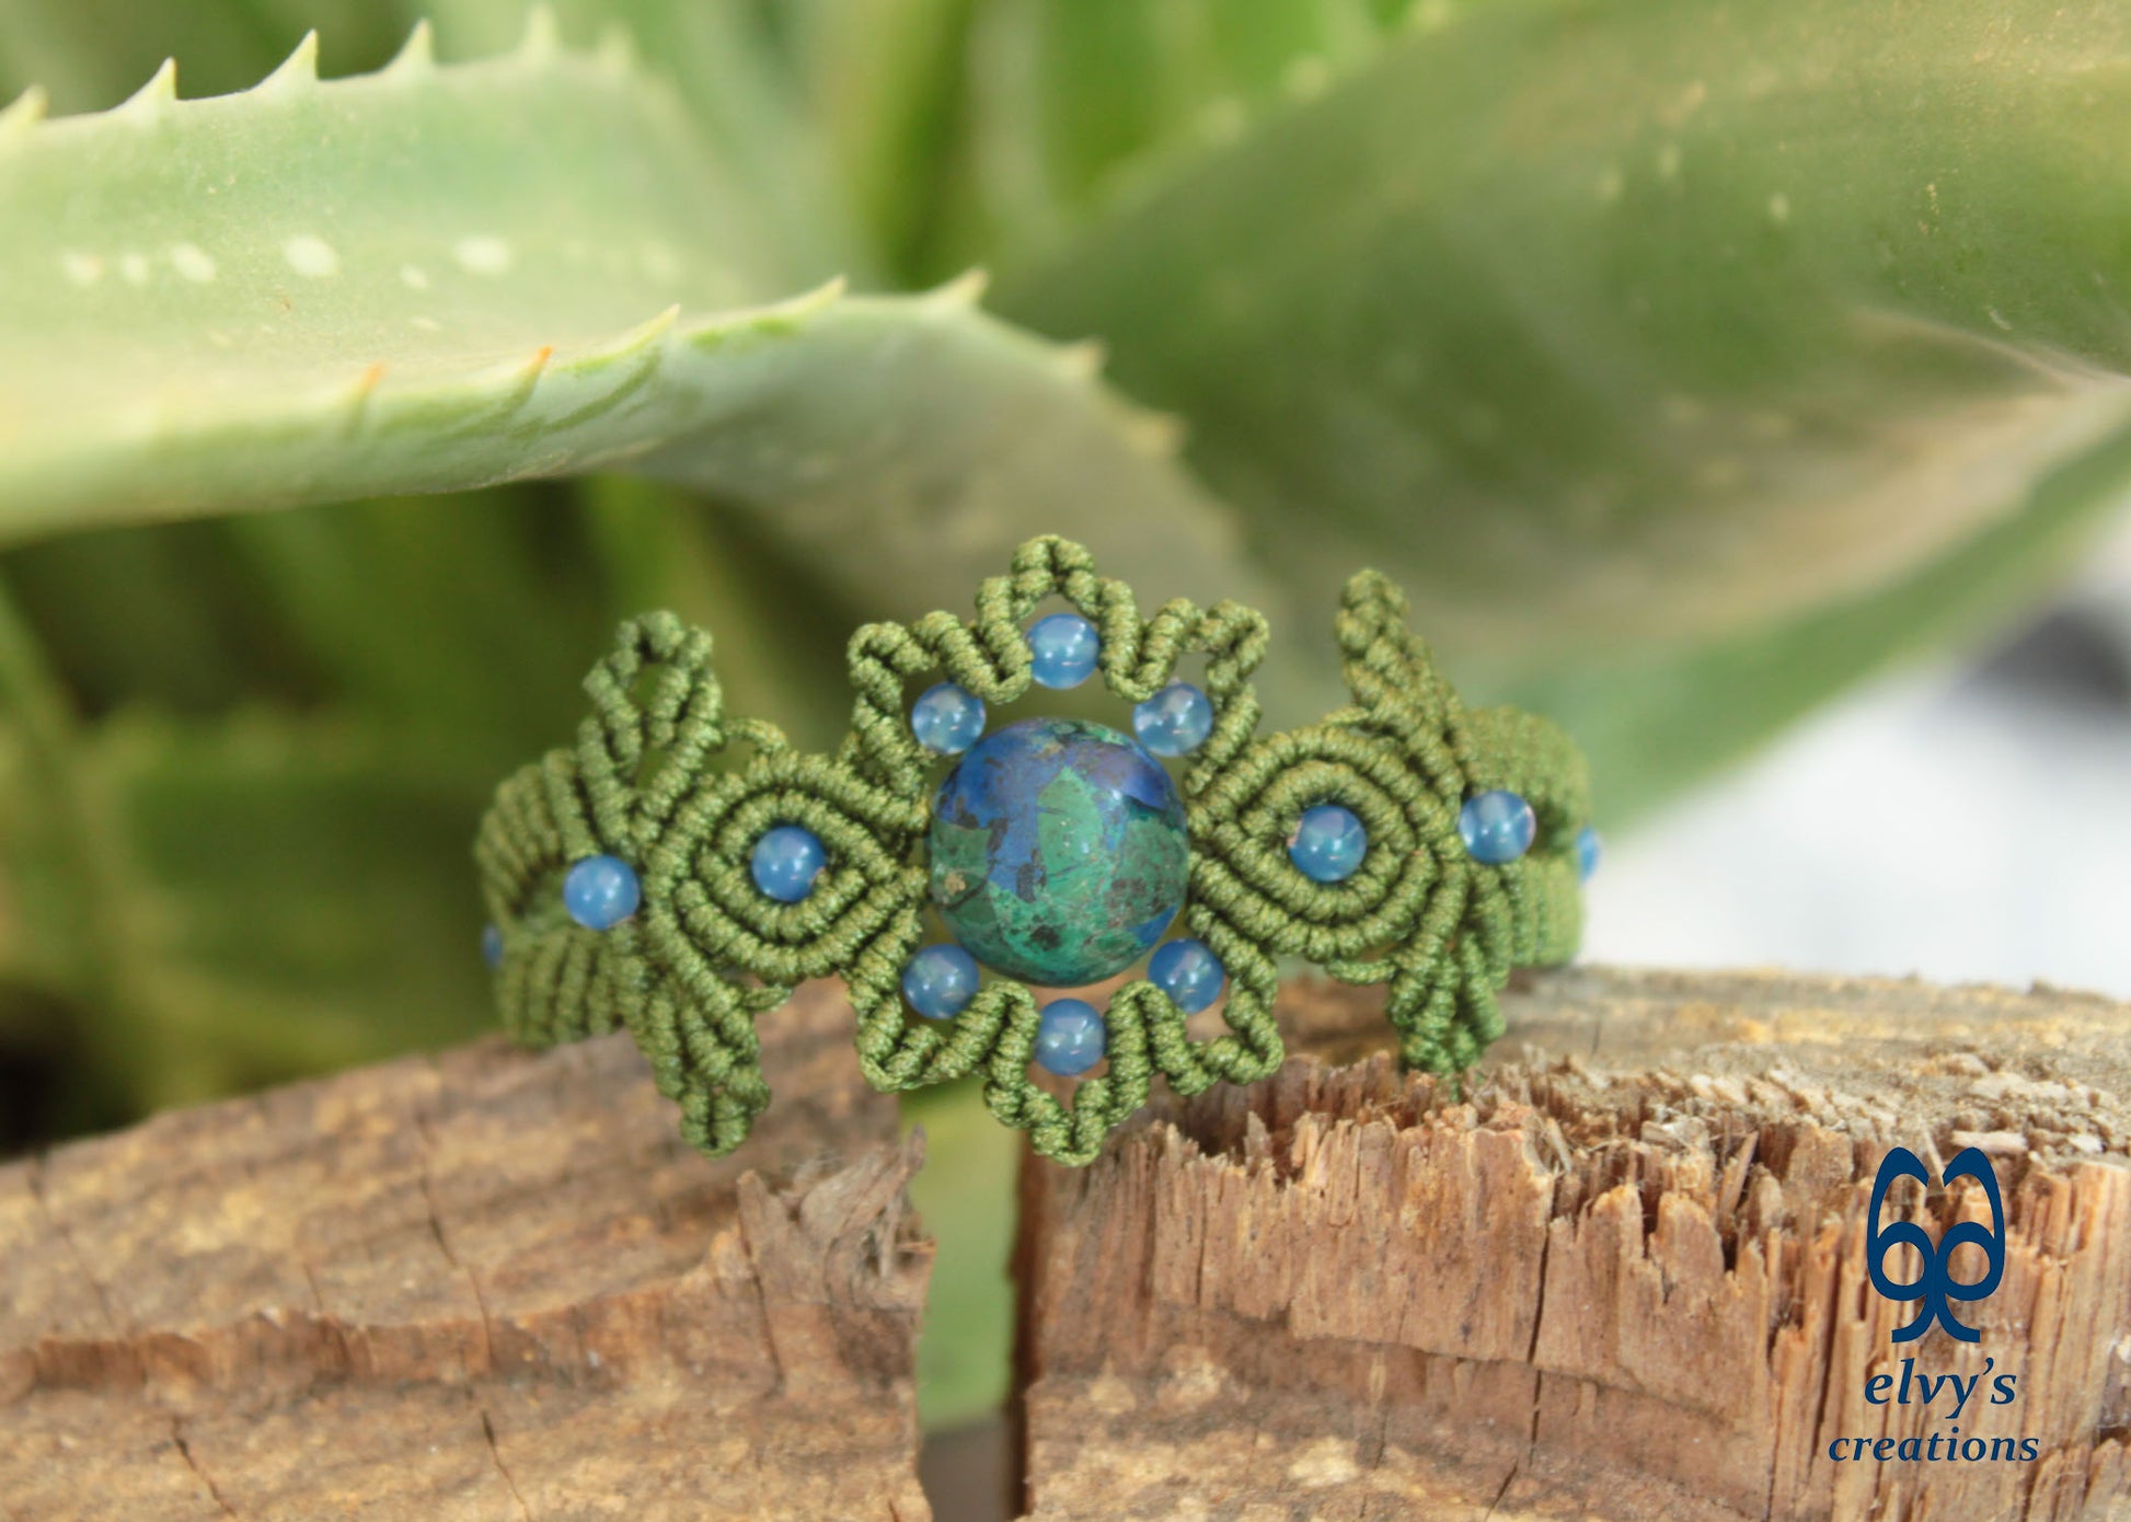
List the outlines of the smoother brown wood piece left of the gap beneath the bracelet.
{"type": "Polygon", "coordinates": [[[916,1153],[833,989],[763,1047],[718,1162],[609,1036],[0,1168],[0,1518],[918,1522],[916,1153]]]}

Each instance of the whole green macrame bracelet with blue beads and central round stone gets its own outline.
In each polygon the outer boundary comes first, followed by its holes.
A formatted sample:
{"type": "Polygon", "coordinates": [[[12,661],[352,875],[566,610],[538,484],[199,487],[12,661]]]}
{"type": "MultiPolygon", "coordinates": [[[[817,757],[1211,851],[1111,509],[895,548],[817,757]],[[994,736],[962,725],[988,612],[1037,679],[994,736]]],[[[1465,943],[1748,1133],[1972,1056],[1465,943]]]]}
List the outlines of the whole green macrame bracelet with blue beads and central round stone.
{"type": "Polygon", "coordinates": [[[991,1113],[1070,1164],[1157,1072],[1198,1094],[1279,1068],[1279,957],[1385,985],[1402,1062],[1462,1072],[1502,1030],[1509,970],[1575,953],[1583,757],[1543,718],[1464,708],[1374,571],[1347,582],[1336,635],[1353,701],[1259,733],[1257,612],[1142,618],[1087,550],[1034,539],[974,620],[859,629],[850,733],[814,755],[725,712],[707,633],[635,618],[586,678],[578,744],[482,823],[503,1023],[528,1045],[627,1027],[707,1153],[769,1104],[757,1017],[829,974],[874,1087],[982,1072],[991,1113]],[[1074,612],[1027,627],[1046,599],[1074,612]],[[1176,680],[1187,657],[1202,686],[1176,680]],[[989,708],[1091,676],[1138,740],[985,733],[989,708]],[[1102,1013],[1036,993],[1134,968],[1102,1013]],[[1195,1034],[1217,998],[1225,1030],[1195,1034]],[[1070,1104],[1029,1072],[1100,1062],[1070,1104]]]}

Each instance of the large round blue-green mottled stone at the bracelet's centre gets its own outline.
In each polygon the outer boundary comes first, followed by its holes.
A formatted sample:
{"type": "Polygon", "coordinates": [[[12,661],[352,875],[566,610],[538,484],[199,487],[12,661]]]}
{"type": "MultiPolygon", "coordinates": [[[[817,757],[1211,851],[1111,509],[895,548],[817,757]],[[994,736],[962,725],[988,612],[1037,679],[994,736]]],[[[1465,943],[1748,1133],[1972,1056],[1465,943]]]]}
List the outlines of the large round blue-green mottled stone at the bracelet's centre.
{"type": "Polygon", "coordinates": [[[931,897],[978,961],[1038,987],[1123,972],[1185,902],[1176,784],[1104,725],[1025,718],[987,735],[933,799],[931,897]]]}

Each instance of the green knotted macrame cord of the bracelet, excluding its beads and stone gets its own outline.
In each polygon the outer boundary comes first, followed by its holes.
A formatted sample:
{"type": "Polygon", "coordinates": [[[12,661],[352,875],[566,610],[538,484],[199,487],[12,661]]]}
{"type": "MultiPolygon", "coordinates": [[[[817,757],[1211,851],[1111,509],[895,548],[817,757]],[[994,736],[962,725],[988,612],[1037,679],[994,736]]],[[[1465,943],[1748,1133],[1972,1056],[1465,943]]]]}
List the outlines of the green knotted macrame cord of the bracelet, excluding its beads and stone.
{"type": "Polygon", "coordinates": [[[1404,597],[1374,571],[1347,582],[1336,635],[1353,701],[1259,735],[1257,612],[1170,601],[1140,618],[1132,588],[1095,576],[1087,550],[1031,539],[1008,576],[982,584],[974,620],[933,612],[859,629],[850,733],[835,755],[812,755],[776,725],[727,716],[707,633],[671,614],[635,618],[586,678],[592,714],[578,744],[503,782],[482,823],[503,1023],[535,1047],[627,1027],[680,1104],[686,1138],[712,1155],[746,1140],[769,1104],[757,1017],[829,974],[850,989],[876,1089],[982,1072],[991,1113],[1068,1164],[1095,1157],[1155,1072],[1198,1094],[1279,1068],[1279,957],[1385,985],[1402,1062],[1462,1072],[1502,1032],[1496,991],[1509,970],[1575,953],[1579,855],[1592,840],[1583,757],[1543,718],[1464,708],[1406,629],[1404,597]],[[901,995],[904,966],[929,938],[921,857],[946,767],[910,729],[912,678],[957,682],[987,706],[1025,697],[1023,620],[1051,597],[1095,625],[1102,682],[1127,703],[1161,691],[1183,657],[1206,657],[1213,729],[1178,778],[1189,838],[1178,921],[1227,974],[1217,1036],[1189,1034],[1146,978],[1117,989],[1108,1070],[1083,1079],[1070,1104],[1029,1076],[1042,1010],[1025,983],[989,978],[953,1021],[921,1019],[901,995]],[[1522,857],[1485,865],[1460,812],[1496,789],[1530,804],[1536,833],[1522,857]],[[1347,880],[1311,880],[1289,859],[1317,804],[1366,825],[1347,880]],[[812,831],[827,853],[797,904],[750,876],[750,853],[776,825],[812,831]],[[592,857],[633,868],[641,893],[609,929],[578,923],[563,900],[569,870],[592,857]]]}

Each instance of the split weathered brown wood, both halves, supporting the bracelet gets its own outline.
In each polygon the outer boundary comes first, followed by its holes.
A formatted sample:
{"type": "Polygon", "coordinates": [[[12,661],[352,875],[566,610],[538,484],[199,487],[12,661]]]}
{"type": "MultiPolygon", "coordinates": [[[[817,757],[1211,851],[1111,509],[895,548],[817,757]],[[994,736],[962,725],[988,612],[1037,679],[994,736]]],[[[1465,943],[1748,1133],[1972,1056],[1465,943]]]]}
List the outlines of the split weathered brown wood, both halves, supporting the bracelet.
{"type": "MultiPolygon", "coordinates": [[[[2131,1010],[1603,970],[1507,1008],[1460,1096],[1298,983],[1281,1074],[1027,1164],[1036,1518],[2131,1513],[2131,1010]],[[1973,1345],[1892,1343],[1869,1288],[1894,1145],[1997,1166],[1973,1345]],[[2033,1458],[1873,1456],[1956,1424],[2033,1458]]],[[[605,1038],[0,1168],[0,1518],[918,1522],[916,1153],[840,995],[763,1034],[778,1102],[722,1162],[605,1038]]]]}

